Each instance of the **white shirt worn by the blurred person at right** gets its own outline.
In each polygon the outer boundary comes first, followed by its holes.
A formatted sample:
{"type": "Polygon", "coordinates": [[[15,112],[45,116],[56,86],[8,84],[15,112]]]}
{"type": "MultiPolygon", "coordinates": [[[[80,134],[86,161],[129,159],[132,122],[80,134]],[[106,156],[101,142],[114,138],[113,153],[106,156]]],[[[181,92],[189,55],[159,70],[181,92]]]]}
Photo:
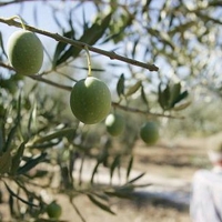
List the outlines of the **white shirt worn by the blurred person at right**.
{"type": "Polygon", "coordinates": [[[222,222],[222,169],[199,170],[192,181],[192,222],[222,222]]]}

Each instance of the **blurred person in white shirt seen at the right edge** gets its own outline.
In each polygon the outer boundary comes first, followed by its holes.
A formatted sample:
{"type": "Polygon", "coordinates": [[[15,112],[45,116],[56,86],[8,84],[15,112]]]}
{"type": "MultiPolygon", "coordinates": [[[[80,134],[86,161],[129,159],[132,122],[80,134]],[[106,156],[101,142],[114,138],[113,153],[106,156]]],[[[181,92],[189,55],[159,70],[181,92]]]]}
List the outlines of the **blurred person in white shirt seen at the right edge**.
{"type": "Polygon", "coordinates": [[[222,222],[222,138],[209,141],[210,170],[199,170],[192,180],[190,216],[192,222],[222,222]]]}

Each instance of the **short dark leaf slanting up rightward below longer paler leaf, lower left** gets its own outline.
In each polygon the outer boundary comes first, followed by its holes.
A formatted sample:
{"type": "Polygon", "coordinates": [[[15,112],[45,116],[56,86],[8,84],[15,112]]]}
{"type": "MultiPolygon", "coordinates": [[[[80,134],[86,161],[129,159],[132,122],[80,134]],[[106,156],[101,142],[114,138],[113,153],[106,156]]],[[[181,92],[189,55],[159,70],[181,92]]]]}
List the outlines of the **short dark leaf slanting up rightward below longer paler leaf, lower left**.
{"type": "Polygon", "coordinates": [[[44,161],[47,157],[47,153],[41,153],[39,155],[36,155],[34,158],[30,159],[24,165],[20,167],[17,171],[17,174],[24,174],[32,168],[34,168],[40,162],[44,161]]]}

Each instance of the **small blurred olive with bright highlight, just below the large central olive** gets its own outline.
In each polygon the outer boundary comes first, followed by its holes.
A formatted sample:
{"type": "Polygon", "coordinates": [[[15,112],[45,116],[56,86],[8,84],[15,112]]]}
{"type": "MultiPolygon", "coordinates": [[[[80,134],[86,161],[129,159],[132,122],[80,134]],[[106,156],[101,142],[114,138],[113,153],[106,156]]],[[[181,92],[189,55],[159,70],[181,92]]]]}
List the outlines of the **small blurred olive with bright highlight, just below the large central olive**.
{"type": "Polygon", "coordinates": [[[105,127],[107,127],[107,131],[113,135],[120,135],[125,127],[125,121],[123,119],[122,115],[118,114],[118,113],[111,113],[105,119],[105,127]]]}

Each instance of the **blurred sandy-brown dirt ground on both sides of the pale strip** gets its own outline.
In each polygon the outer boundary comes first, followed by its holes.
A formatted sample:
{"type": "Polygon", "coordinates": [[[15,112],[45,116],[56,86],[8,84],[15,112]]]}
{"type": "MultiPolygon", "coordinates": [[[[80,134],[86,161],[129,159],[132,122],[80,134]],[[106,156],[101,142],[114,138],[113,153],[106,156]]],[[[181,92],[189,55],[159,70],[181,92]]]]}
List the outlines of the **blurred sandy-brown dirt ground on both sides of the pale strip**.
{"type": "MultiPolygon", "coordinates": [[[[191,182],[193,173],[201,168],[209,168],[204,140],[189,139],[161,141],[148,148],[139,143],[133,150],[134,169],[163,179],[181,179],[191,182]]],[[[107,213],[93,205],[84,195],[75,199],[81,216],[69,203],[67,196],[57,199],[63,208],[62,220],[68,222],[189,222],[189,208],[169,204],[164,201],[149,199],[113,199],[111,209],[115,215],[107,213]]],[[[3,205],[0,213],[6,215],[3,205]]],[[[2,218],[3,219],[3,218],[2,218]]],[[[2,220],[2,221],[10,221],[2,220]]]]}

